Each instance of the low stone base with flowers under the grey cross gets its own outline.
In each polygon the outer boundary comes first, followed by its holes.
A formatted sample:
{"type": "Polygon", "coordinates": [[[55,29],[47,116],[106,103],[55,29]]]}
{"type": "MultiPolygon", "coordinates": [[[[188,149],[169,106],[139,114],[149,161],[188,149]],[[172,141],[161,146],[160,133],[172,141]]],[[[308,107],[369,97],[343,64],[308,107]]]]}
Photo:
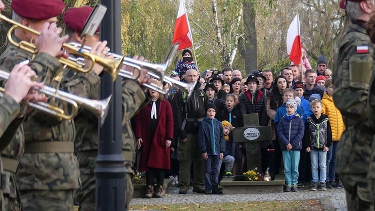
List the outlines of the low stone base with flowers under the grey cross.
{"type": "Polygon", "coordinates": [[[284,175],[271,175],[271,181],[246,181],[244,175],[223,178],[220,182],[222,194],[258,194],[277,193],[283,191],[284,175]]]}

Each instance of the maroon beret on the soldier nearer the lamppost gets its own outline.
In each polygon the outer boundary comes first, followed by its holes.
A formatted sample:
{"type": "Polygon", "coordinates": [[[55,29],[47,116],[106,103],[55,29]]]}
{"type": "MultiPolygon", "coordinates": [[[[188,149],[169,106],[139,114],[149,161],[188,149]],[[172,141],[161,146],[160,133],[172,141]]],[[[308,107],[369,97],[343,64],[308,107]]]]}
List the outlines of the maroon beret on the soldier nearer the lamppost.
{"type": "MultiPolygon", "coordinates": [[[[80,8],[70,8],[64,14],[62,21],[65,23],[66,27],[76,31],[82,32],[84,24],[86,23],[88,16],[91,14],[93,8],[84,6],[80,8]]],[[[96,32],[99,31],[97,28],[96,32]]]]}

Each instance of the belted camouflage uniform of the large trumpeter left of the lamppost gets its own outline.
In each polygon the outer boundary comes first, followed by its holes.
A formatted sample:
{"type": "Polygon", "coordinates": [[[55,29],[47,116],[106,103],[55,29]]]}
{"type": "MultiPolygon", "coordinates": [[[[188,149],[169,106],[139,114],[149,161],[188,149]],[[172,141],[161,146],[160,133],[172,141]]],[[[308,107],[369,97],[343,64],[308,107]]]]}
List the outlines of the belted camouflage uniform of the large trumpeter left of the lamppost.
{"type": "MultiPolygon", "coordinates": [[[[18,38],[13,38],[19,41],[18,38]]],[[[9,44],[0,56],[0,64],[11,70],[15,64],[26,59],[31,60],[32,55],[9,44]]],[[[61,69],[56,58],[38,53],[29,66],[36,72],[39,81],[48,86],[56,86],[56,82],[51,82],[61,69]]],[[[65,106],[63,103],[62,105],[65,106]]],[[[11,163],[17,163],[21,159],[17,185],[21,192],[22,209],[72,210],[73,189],[80,187],[78,162],[73,153],[74,124],[72,121],[58,121],[42,112],[35,111],[32,114],[22,123],[24,140],[22,127],[19,127],[16,136],[1,153],[1,157],[9,158],[11,163]]],[[[5,197],[12,198],[9,200],[12,203],[17,198],[17,187],[14,169],[10,168],[14,168],[14,165],[10,165],[8,170],[4,169],[6,183],[2,191],[5,197]]]]}

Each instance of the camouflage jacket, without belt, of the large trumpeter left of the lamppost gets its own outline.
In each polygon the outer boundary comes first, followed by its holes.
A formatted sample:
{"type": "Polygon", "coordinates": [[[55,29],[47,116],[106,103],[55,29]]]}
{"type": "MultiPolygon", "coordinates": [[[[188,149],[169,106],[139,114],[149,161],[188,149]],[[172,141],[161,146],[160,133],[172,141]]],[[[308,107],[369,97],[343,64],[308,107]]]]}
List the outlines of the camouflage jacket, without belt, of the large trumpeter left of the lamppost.
{"type": "MultiPolygon", "coordinates": [[[[14,37],[14,36],[13,36],[14,37]]],[[[16,37],[15,40],[19,41],[16,37]]],[[[0,64],[7,70],[11,70],[15,64],[26,59],[33,69],[38,81],[45,85],[55,87],[52,82],[54,75],[62,68],[54,57],[48,54],[38,53],[32,59],[30,53],[17,49],[9,44],[0,56],[0,64]]],[[[56,118],[42,112],[35,112],[23,123],[24,144],[33,142],[51,142],[74,140],[75,128],[72,121],[58,121],[56,118]]],[[[19,137],[22,137],[20,135],[19,137]]],[[[1,156],[20,159],[22,155],[23,140],[15,138],[8,145],[1,156]]],[[[64,153],[27,153],[24,154],[17,171],[17,183],[19,189],[73,189],[80,186],[78,162],[73,152],[64,153]]],[[[14,186],[7,184],[8,186],[14,186]]],[[[9,188],[12,190],[12,188],[9,188]]]]}

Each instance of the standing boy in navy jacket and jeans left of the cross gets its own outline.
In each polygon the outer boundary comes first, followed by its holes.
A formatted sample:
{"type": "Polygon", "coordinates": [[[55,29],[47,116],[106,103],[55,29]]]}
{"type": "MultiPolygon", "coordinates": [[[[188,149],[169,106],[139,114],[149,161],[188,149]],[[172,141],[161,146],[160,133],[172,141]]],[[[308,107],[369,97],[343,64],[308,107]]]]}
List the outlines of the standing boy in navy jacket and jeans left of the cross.
{"type": "Polygon", "coordinates": [[[198,130],[198,145],[204,162],[205,194],[220,194],[218,183],[218,164],[225,152],[224,133],[222,124],[215,119],[216,106],[208,103],[205,106],[206,117],[200,122],[198,130]]]}

